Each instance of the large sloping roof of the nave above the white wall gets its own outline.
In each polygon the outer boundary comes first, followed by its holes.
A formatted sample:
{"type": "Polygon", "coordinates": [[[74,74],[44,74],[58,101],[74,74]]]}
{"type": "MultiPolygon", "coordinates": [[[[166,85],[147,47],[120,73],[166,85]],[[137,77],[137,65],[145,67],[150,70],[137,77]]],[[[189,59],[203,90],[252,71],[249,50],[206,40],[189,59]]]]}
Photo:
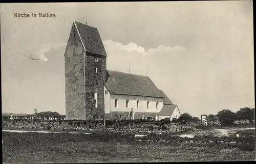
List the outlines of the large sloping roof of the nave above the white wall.
{"type": "Polygon", "coordinates": [[[110,70],[106,74],[105,86],[111,94],[164,97],[150,77],[110,70]]]}

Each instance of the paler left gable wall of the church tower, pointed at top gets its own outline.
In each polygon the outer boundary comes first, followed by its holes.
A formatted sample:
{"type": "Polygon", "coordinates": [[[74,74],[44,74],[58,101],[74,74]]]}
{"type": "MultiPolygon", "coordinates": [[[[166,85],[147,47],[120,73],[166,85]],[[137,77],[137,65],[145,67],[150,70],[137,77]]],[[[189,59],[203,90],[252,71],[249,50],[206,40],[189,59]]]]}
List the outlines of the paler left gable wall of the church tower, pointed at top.
{"type": "Polygon", "coordinates": [[[66,117],[67,119],[85,118],[84,68],[85,53],[73,24],[65,51],[66,79],[66,117]]]}

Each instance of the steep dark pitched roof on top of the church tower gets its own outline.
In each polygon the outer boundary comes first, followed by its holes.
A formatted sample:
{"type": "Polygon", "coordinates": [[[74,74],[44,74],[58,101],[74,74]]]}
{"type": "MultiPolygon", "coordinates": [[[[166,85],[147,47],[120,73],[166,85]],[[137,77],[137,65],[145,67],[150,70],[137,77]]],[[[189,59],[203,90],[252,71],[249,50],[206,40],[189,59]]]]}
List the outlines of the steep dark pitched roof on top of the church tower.
{"type": "Polygon", "coordinates": [[[107,56],[97,28],[77,21],[74,23],[81,36],[81,40],[86,51],[99,54],[101,56],[107,56]]]}

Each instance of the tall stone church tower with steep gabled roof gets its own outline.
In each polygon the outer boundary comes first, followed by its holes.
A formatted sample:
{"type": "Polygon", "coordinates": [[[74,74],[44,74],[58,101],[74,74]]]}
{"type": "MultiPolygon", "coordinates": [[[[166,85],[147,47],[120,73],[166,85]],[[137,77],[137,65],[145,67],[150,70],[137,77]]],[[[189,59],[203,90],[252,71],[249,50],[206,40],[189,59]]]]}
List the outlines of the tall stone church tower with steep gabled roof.
{"type": "Polygon", "coordinates": [[[64,56],[67,120],[103,119],[107,55],[98,30],[74,21],[64,56]]]}

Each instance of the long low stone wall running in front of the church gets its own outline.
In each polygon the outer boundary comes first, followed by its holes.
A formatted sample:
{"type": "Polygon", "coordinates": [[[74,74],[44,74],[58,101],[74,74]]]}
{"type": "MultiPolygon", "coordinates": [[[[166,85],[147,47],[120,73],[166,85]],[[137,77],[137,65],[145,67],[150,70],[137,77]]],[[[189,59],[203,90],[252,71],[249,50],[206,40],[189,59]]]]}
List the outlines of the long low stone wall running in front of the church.
{"type": "MultiPolygon", "coordinates": [[[[106,131],[120,132],[120,133],[175,133],[192,130],[194,124],[180,124],[180,123],[162,123],[162,122],[140,122],[140,123],[124,123],[115,122],[111,125],[106,125],[106,131]]],[[[18,121],[13,123],[3,122],[3,129],[41,129],[41,130],[72,130],[72,131],[90,131],[103,132],[104,124],[102,122],[88,122],[86,125],[78,125],[77,121],[73,121],[72,125],[69,121],[63,121],[59,124],[58,121],[38,121],[25,122],[18,121]],[[51,127],[49,129],[49,127],[51,127]]]]}

